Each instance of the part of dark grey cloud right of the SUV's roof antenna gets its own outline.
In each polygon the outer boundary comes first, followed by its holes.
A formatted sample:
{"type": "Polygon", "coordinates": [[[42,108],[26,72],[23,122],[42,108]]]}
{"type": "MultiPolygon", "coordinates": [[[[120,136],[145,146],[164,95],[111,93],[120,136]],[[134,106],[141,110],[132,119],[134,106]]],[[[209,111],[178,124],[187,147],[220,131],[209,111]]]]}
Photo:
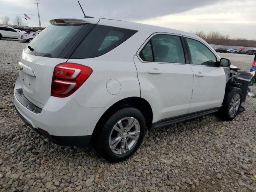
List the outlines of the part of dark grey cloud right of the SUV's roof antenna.
{"type": "Polygon", "coordinates": [[[141,20],[180,13],[224,0],[80,0],[86,13],[100,18],[141,20]]]}

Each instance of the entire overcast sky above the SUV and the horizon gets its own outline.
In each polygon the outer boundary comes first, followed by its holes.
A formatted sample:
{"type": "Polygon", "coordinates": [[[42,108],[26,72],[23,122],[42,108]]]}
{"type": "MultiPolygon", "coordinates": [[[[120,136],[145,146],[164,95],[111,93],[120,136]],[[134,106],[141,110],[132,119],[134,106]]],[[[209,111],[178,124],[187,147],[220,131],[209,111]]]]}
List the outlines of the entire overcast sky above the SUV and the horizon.
{"type": "MultiPolygon", "coordinates": [[[[26,13],[38,26],[36,0],[0,0],[0,18],[26,13]]],[[[42,26],[52,18],[82,17],[76,0],[39,0],[42,26]]],[[[183,30],[218,31],[231,38],[256,39],[256,0],[80,0],[86,15],[183,30]]]]}

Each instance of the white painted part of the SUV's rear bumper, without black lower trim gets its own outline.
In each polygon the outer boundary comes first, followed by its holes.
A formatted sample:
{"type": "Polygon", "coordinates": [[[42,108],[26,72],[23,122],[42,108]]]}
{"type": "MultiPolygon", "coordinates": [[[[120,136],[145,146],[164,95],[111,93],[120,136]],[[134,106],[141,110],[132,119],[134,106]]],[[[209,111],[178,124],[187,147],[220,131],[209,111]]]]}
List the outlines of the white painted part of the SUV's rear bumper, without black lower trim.
{"type": "MultiPolygon", "coordinates": [[[[20,79],[15,89],[22,88],[20,79]]],[[[54,136],[86,136],[92,135],[98,119],[108,108],[84,108],[72,97],[50,97],[42,112],[35,114],[25,108],[14,95],[14,104],[18,112],[34,128],[42,128],[54,136]]]]}

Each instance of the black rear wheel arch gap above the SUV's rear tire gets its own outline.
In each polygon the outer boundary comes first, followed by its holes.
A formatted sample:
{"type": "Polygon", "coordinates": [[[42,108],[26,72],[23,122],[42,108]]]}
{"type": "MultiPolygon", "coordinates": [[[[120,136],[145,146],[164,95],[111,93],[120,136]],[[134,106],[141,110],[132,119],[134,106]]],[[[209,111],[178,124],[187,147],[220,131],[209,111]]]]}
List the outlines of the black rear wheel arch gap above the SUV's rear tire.
{"type": "Polygon", "coordinates": [[[110,106],[110,108],[108,108],[106,112],[104,112],[94,128],[94,131],[92,133],[92,141],[94,140],[95,136],[98,135],[97,133],[101,131],[105,122],[112,116],[112,114],[125,107],[134,107],[140,110],[146,120],[147,129],[151,129],[153,111],[148,101],[141,97],[128,97],[119,100],[118,102],[110,106]]]}

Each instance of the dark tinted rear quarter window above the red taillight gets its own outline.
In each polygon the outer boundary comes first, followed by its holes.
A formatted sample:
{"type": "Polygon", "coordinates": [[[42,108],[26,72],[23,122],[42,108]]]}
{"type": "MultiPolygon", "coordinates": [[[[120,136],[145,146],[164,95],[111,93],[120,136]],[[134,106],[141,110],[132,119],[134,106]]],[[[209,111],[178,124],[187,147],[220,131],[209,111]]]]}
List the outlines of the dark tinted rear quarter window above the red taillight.
{"type": "Polygon", "coordinates": [[[116,48],[137,31],[111,26],[96,25],[82,40],[70,58],[93,58],[116,48]]]}

